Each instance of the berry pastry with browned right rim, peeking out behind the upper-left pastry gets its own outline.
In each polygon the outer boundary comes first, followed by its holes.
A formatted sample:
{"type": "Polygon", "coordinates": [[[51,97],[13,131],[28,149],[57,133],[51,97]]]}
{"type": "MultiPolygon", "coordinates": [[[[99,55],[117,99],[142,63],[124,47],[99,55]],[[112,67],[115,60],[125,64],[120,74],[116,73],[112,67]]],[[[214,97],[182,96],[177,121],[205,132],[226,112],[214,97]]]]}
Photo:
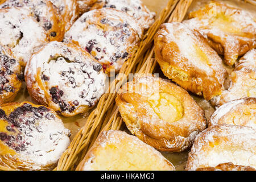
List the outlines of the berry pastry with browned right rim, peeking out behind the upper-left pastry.
{"type": "Polygon", "coordinates": [[[47,32],[50,40],[63,40],[64,25],[59,10],[48,0],[7,0],[0,5],[0,9],[24,7],[31,11],[40,26],[47,32]],[[57,11],[57,12],[56,12],[57,11]]]}

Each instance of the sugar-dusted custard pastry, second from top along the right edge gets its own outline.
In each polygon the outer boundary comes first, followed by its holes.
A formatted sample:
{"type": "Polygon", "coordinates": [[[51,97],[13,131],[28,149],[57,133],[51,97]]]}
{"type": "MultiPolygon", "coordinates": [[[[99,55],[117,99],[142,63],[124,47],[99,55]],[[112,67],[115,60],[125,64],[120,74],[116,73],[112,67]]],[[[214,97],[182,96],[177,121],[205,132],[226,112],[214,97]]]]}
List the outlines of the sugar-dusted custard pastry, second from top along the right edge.
{"type": "Polygon", "coordinates": [[[256,49],[247,52],[230,74],[230,86],[211,101],[220,106],[244,97],[256,97],[256,49]]]}

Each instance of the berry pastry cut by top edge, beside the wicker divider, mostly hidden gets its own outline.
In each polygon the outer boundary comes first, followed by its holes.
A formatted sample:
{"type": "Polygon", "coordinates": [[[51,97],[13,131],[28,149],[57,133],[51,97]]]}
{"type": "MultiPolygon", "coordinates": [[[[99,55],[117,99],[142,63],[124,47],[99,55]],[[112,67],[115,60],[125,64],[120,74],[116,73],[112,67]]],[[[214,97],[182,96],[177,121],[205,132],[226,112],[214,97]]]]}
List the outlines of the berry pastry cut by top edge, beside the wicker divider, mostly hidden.
{"type": "Polygon", "coordinates": [[[133,16],[145,30],[154,23],[155,13],[150,12],[150,10],[142,4],[141,0],[98,0],[93,5],[92,9],[100,9],[102,7],[124,11],[130,16],[133,16]]]}

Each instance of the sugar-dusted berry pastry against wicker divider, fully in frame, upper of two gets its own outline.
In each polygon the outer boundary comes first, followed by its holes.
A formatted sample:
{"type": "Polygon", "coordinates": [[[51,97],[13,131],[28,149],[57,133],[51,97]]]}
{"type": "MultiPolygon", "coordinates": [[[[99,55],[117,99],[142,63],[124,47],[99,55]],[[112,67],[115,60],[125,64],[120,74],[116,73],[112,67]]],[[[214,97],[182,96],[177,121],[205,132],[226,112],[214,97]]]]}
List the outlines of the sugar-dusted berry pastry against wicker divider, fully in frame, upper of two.
{"type": "Polygon", "coordinates": [[[103,64],[105,73],[118,72],[131,56],[142,35],[142,28],[126,13],[98,9],[83,14],[68,32],[65,42],[72,42],[103,64]]]}

